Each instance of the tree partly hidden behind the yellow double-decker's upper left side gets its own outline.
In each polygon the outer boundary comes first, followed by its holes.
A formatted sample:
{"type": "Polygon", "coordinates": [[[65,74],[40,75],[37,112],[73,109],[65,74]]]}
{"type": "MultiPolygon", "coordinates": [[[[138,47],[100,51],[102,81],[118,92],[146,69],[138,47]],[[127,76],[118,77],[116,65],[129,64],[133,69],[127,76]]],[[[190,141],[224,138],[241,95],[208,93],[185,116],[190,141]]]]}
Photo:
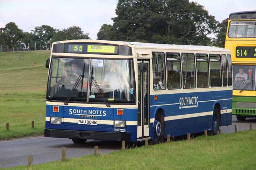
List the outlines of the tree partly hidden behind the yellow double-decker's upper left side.
{"type": "Polygon", "coordinates": [[[225,47],[225,39],[228,28],[228,18],[222,20],[221,23],[218,24],[217,37],[213,42],[214,46],[224,48],[225,47]]]}

